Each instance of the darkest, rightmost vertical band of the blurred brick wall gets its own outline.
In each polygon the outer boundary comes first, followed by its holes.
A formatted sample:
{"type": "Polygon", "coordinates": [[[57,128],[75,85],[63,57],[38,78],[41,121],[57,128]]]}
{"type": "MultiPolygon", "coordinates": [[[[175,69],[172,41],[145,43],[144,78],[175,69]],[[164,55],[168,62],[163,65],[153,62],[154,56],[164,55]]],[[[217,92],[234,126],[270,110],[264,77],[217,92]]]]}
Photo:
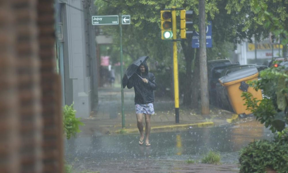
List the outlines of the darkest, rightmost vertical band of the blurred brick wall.
{"type": "Polygon", "coordinates": [[[55,73],[54,1],[38,0],[43,117],[43,172],[62,172],[62,116],[60,77],[55,73]],[[57,171],[56,171],[57,170],[57,171]]]}

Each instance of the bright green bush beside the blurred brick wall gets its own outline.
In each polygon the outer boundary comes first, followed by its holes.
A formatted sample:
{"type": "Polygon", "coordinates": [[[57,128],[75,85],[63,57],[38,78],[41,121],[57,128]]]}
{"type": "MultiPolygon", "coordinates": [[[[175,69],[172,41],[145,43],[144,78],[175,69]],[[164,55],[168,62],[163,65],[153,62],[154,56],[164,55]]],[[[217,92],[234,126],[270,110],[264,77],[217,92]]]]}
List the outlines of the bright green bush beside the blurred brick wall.
{"type": "Polygon", "coordinates": [[[81,118],[75,117],[76,110],[74,110],[73,104],[65,105],[63,108],[64,135],[67,139],[70,139],[71,136],[75,137],[77,133],[81,132],[79,125],[84,125],[80,121],[81,118]]]}

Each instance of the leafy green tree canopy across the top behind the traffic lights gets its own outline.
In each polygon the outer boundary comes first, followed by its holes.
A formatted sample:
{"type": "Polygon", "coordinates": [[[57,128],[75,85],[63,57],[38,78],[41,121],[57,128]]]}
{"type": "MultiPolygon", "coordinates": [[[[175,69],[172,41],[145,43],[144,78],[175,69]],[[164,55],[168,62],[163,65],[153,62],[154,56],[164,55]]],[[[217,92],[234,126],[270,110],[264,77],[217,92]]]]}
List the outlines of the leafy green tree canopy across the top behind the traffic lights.
{"type": "MultiPolygon", "coordinates": [[[[255,37],[260,41],[267,38],[271,32],[275,37],[281,33],[280,39],[285,41],[288,25],[287,2],[288,0],[206,0],[206,22],[212,21],[213,38],[213,47],[207,49],[208,60],[230,58],[236,44],[243,39],[252,41],[255,37]]],[[[149,62],[158,64],[161,70],[172,67],[171,42],[161,40],[160,10],[162,9],[175,6],[193,10],[194,29],[198,31],[198,0],[95,0],[95,5],[97,15],[131,15],[131,24],[122,25],[126,66],[128,61],[147,55],[151,57],[149,62]]],[[[113,37],[112,59],[119,61],[119,26],[101,26],[101,29],[106,35],[113,37]]],[[[186,40],[178,42],[178,61],[181,67],[179,80],[187,79],[184,80],[182,90],[191,88],[193,84],[189,80],[192,80],[192,69],[195,68],[192,61],[197,53],[195,53],[196,49],[191,47],[191,41],[192,37],[188,36],[186,40]]],[[[287,49],[287,42],[284,50],[285,48],[287,49]]],[[[172,82],[171,79],[169,80],[172,82]]],[[[191,97],[190,93],[184,95],[191,97]]]]}

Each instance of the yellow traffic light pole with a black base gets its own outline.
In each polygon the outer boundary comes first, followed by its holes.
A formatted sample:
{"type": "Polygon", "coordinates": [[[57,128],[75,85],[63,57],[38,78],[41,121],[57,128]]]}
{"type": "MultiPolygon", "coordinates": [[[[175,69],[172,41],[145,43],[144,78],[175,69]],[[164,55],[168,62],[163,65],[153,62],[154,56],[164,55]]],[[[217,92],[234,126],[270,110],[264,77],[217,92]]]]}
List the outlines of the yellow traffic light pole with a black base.
{"type": "Polygon", "coordinates": [[[177,31],[176,31],[176,7],[172,7],[172,31],[173,31],[173,70],[174,70],[174,96],[175,96],[175,122],[179,123],[179,84],[178,84],[178,60],[177,60],[177,31]]]}

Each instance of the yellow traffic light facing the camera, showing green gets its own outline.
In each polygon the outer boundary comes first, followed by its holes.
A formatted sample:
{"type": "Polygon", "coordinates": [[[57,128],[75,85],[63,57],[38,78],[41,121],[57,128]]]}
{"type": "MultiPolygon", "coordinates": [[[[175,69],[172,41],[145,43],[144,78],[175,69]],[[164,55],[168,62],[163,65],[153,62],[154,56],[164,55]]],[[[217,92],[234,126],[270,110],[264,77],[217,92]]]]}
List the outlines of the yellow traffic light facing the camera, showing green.
{"type": "Polygon", "coordinates": [[[161,39],[168,40],[172,39],[172,13],[170,10],[161,10],[161,39]]]}

